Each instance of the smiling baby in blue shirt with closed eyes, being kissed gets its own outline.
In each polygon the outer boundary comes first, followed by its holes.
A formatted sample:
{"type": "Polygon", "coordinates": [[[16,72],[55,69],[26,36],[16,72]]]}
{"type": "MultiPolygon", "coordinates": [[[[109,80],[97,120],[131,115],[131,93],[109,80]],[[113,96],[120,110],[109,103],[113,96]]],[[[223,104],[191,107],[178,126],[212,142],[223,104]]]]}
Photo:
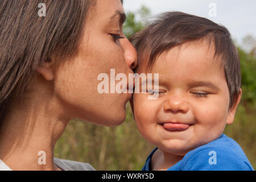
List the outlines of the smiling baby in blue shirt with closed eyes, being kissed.
{"type": "Polygon", "coordinates": [[[138,130],[157,146],[143,170],[253,170],[239,144],[223,134],[242,94],[229,31],[171,12],[130,40],[138,50],[136,72],[159,74],[158,89],[135,93],[130,101],[138,130]]]}

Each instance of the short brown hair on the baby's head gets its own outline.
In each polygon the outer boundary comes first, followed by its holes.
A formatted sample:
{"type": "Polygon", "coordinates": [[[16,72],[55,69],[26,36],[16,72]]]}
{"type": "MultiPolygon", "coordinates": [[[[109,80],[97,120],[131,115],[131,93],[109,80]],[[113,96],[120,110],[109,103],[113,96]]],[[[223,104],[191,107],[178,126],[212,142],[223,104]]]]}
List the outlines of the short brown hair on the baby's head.
{"type": "Polygon", "coordinates": [[[153,19],[144,30],[130,37],[138,50],[138,60],[147,60],[152,68],[163,52],[186,42],[208,39],[214,42],[215,55],[220,56],[229,88],[229,108],[236,102],[241,87],[240,59],[229,31],[209,19],[181,12],[163,13],[153,19]]]}

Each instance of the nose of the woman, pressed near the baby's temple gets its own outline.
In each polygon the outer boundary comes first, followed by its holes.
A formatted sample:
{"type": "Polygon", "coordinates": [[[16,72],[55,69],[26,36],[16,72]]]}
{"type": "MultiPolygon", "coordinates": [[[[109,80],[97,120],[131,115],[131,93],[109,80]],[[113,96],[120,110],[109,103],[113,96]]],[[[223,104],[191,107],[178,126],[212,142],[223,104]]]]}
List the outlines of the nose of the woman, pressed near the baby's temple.
{"type": "Polygon", "coordinates": [[[126,64],[130,69],[135,69],[138,64],[136,49],[126,37],[124,39],[121,39],[120,41],[125,55],[126,64]]]}

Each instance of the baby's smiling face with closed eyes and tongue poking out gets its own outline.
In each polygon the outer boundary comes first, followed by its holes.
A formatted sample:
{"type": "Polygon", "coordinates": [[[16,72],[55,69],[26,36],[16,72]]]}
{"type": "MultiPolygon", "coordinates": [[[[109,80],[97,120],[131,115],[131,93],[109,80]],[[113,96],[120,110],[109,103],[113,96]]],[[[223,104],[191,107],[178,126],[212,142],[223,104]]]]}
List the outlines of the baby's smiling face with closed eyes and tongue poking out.
{"type": "MultiPolygon", "coordinates": [[[[138,73],[159,73],[158,98],[134,94],[134,118],[143,137],[160,150],[185,155],[220,137],[232,123],[229,89],[214,46],[185,43],[156,59],[150,72],[141,63],[138,73]]],[[[153,84],[154,85],[154,84],[153,84]]]]}

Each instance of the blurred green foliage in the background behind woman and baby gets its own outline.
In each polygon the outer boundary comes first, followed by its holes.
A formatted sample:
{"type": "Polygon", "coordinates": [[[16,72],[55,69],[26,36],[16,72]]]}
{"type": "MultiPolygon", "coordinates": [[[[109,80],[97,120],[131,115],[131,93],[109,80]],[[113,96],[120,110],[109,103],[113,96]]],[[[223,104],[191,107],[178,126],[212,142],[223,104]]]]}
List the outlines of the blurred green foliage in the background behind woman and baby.
{"type": "MultiPolygon", "coordinates": [[[[146,7],[127,13],[125,35],[142,30],[150,15],[146,7]]],[[[256,169],[256,44],[248,52],[238,47],[242,72],[242,100],[232,125],[224,133],[236,140],[256,169]]],[[[96,126],[72,119],[55,146],[55,158],[91,164],[97,170],[141,170],[154,148],[139,134],[129,103],[126,121],[118,127],[96,126]]]]}

